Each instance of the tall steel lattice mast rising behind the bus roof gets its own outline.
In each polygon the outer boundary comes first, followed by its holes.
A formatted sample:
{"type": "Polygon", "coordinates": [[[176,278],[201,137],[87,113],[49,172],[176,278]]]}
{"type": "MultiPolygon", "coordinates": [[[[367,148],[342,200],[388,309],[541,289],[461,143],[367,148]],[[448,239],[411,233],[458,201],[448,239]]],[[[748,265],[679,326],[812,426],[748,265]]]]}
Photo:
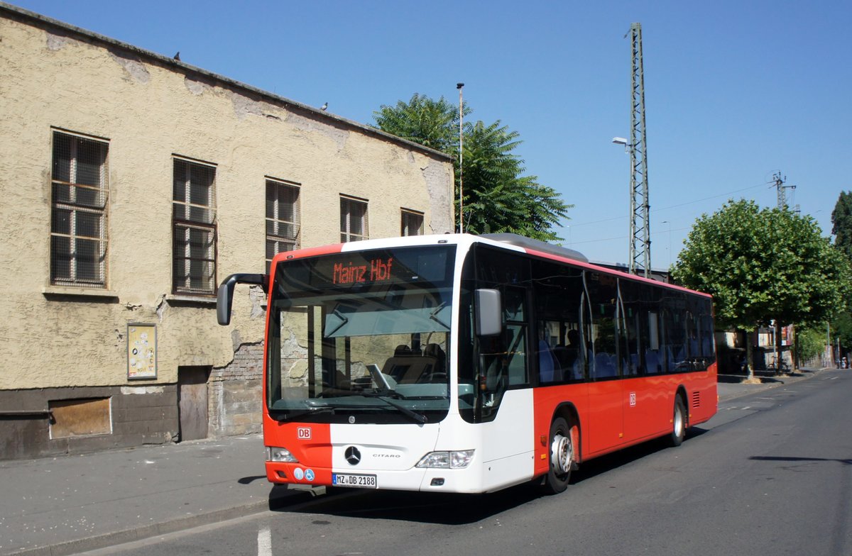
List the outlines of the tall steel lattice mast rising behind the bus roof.
{"type": "Polygon", "coordinates": [[[651,272],[651,205],[648,203],[648,146],[645,142],[645,79],[642,24],[630,24],[630,272],[651,272]]]}

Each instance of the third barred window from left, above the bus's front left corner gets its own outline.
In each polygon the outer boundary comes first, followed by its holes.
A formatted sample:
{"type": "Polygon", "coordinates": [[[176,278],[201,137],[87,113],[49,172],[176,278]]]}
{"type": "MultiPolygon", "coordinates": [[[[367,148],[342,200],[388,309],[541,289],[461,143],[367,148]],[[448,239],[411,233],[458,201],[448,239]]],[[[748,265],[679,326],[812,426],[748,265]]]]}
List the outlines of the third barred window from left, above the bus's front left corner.
{"type": "Polygon", "coordinates": [[[267,180],[266,272],[275,255],[299,248],[299,187],[267,180]]]}

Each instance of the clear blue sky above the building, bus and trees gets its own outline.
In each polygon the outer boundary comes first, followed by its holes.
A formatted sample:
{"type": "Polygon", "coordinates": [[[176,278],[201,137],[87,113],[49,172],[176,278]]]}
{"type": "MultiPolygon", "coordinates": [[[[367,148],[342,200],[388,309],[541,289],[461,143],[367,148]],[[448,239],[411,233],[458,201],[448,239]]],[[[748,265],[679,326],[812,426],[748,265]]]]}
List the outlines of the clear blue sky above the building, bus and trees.
{"type": "Polygon", "coordinates": [[[630,23],[642,23],[652,266],[728,198],[788,201],[824,235],[852,190],[852,2],[17,0],[14,5],[360,123],[420,93],[519,132],[573,203],[560,235],[627,261],[630,23]]]}

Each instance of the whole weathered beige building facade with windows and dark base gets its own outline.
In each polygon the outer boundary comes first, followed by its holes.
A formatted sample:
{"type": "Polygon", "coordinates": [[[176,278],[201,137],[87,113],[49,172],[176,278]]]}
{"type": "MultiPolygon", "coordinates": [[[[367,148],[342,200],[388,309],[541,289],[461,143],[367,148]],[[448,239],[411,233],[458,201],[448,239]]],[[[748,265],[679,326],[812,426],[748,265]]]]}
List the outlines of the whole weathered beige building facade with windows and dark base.
{"type": "Polygon", "coordinates": [[[440,152],[0,3],[0,458],[259,430],[282,250],[452,232],[440,152]]]}

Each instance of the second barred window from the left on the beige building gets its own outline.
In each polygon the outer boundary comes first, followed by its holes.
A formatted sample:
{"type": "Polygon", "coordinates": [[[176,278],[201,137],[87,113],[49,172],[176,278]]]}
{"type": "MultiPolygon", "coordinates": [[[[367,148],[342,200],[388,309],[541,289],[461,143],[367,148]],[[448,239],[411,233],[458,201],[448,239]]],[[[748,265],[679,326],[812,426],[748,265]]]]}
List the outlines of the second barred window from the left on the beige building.
{"type": "Polygon", "coordinates": [[[174,293],[216,293],[216,167],[174,159],[174,293]]]}

